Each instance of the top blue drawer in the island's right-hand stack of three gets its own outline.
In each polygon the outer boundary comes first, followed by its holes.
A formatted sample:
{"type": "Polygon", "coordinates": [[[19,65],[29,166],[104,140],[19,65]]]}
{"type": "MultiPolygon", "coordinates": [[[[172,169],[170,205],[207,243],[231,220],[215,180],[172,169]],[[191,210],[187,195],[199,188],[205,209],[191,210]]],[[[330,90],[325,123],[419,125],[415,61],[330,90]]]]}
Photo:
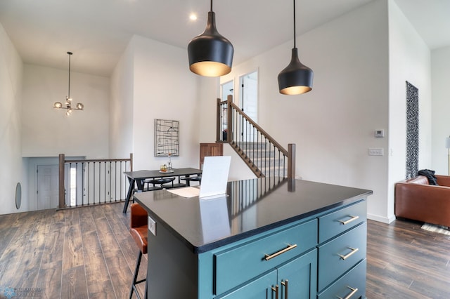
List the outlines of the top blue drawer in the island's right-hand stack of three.
{"type": "Polygon", "coordinates": [[[366,200],[319,217],[319,243],[367,220],[366,200]]]}

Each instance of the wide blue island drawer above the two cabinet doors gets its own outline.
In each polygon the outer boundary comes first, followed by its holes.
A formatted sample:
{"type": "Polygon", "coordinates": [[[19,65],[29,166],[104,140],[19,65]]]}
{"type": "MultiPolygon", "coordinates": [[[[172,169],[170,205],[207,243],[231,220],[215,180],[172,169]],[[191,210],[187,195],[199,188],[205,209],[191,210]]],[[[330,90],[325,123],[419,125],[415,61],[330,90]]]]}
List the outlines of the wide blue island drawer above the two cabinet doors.
{"type": "Polygon", "coordinates": [[[214,293],[219,295],[243,284],[300,253],[314,248],[316,244],[317,220],[313,219],[216,253],[214,254],[214,293]],[[276,255],[276,253],[281,254],[276,255]],[[266,255],[276,256],[266,258],[266,255]]]}

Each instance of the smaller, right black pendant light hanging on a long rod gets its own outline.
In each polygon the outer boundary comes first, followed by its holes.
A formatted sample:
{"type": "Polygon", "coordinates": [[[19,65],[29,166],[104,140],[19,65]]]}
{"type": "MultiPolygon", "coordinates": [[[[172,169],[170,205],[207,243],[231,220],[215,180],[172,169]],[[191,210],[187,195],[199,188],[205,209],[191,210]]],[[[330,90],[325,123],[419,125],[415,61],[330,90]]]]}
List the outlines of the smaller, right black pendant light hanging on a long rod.
{"type": "Polygon", "coordinates": [[[312,89],[314,72],[298,59],[295,46],[295,0],[294,0],[294,48],[290,63],[278,74],[278,88],[283,95],[300,95],[312,89]]]}

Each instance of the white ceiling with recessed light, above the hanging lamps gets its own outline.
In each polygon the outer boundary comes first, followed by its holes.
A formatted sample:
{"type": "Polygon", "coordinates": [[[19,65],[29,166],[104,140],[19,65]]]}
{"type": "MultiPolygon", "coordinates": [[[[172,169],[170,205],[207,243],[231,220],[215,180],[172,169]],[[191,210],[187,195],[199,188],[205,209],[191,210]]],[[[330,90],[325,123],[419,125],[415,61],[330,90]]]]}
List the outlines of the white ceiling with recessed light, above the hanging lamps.
{"type": "MultiPolygon", "coordinates": [[[[297,36],[371,1],[297,0],[297,36]]],[[[449,0],[394,1],[431,49],[450,44],[449,0]]],[[[0,0],[0,23],[25,63],[65,69],[72,51],[73,71],[109,77],[133,34],[187,48],[209,10],[207,0],[0,0]]],[[[293,39],[292,1],[214,1],[213,11],[234,65],[293,39]]]]}

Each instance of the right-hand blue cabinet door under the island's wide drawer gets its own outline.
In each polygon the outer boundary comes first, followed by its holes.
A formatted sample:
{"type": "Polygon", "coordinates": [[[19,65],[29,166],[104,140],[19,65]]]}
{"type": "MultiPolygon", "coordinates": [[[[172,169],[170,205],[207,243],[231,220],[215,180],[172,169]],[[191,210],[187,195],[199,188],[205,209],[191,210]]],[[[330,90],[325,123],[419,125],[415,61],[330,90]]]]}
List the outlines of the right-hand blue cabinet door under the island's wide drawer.
{"type": "Polygon", "coordinates": [[[317,251],[278,267],[278,298],[316,298],[317,251]]]}

